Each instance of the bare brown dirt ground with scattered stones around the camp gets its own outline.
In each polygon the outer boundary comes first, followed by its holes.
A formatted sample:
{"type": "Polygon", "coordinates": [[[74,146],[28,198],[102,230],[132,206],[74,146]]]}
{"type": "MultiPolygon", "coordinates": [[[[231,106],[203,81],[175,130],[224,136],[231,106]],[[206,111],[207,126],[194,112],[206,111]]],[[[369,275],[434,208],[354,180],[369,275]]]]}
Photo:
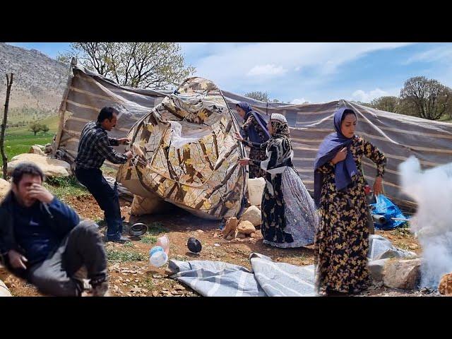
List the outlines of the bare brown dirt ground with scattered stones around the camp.
{"type": "MultiPolygon", "coordinates": [[[[83,218],[99,221],[103,218],[102,210],[90,195],[71,196],[66,198],[83,218]]],[[[311,247],[302,249],[277,249],[262,243],[261,237],[234,239],[227,241],[222,238],[222,231],[218,228],[220,222],[202,220],[175,208],[165,215],[145,215],[131,217],[129,215],[131,203],[121,200],[121,212],[126,221],[144,222],[150,225],[150,234],[145,239],[136,237],[130,244],[107,243],[109,256],[109,283],[113,296],[172,296],[186,297],[198,294],[177,281],[168,278],[165,268],[155,268],[148,262],[148,252],[157,237],[166,234],[169,238],[169,258],[189,260],[213,260],[234,263],[251,268],[249,254],[257,252],[270,256],[274,261],[291,263],[294,265],[310,265],[314,263],[314,252],[311,247]],[[189,237],[196,237],[203,248],[200,254],[191,254],[186,247],[189,237]]],[[[105,227],[101,228],[101,232],[105,227]]],[[[391,231],[376,231],[383,237],[391,239],[393,244],[401,249],[409,249],[417,254],[421,253],[419,243],[406,229],[391,231]]],[[[35,287],[25,281],[15,278],[0,268],[0,279],[8,286],[14,296],[40,296],[35,287]]],[[[434,293],[436,294],[436,293],[434,293]]],[[[417,296],[433,295],[432,291],[398,291],[384,287],[371,287],[363,292],[368,296],[417,296]]]]}

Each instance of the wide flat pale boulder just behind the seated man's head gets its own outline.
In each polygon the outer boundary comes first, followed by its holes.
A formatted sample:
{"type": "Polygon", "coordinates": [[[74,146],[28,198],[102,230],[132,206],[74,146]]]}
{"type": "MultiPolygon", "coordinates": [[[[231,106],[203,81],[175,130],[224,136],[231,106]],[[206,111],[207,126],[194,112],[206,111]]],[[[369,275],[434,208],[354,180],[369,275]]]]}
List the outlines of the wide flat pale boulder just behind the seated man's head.
{"type": "Polygon", "coordinates": [[[19,154],[13,157],[8,162],[8,174],[11,174],[13,169],[23,162],[32,162],[37,165],[46,177],[69,177],[71,175],[71,165],[67,162],[32,153],[19,154]]]}

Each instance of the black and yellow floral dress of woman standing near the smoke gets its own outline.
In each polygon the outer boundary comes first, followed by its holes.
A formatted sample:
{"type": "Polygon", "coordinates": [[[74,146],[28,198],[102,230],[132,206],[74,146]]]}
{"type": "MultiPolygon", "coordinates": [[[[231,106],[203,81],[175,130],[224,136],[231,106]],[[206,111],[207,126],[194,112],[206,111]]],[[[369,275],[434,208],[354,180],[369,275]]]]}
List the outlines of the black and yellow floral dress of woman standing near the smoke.
{"type": "Polygon", "coordinates": [[[328,162],[318,170],[323,175],[319,207],[320,225],[316,234],[316,285],[342,293],[363,290],[369,285],[367,252],[369,249],[368,204],[361,158],[372,160],[377,175],[383,177],[386,157],[371,143],[355,136],[350,145],[358,174],[343,191],[335,188],[334,166],[328,162]]]}

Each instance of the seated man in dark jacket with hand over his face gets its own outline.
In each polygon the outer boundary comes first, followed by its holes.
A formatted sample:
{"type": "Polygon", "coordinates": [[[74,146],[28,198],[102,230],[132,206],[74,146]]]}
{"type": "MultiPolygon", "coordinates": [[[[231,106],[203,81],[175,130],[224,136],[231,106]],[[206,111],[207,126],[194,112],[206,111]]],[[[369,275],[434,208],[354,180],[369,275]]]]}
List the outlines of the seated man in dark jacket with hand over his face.
{"type": "Polygon", "coordinates": [[[93,296],[105,296],[107,257],[97,225],[47,191],[43,177],[31,163],[14,169],[0,205],[0,258],[11,273],[54,296],[81,296],[83,282],[73,277],[85,266],[93,296]]]}

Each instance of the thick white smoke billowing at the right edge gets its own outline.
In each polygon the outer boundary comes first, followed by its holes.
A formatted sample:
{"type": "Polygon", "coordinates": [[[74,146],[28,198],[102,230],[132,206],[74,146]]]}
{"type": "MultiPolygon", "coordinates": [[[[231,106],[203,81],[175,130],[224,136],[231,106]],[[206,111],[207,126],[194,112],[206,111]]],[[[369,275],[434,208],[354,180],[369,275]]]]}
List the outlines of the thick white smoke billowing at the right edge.
{"type": "Polygon", "coordinates": [[[452,162],[422,171],[416,157],[399,166],[402,191],[417,202],[410,221],[422,246],[421,285],[437,288],[452,272],[452,162]]]}

